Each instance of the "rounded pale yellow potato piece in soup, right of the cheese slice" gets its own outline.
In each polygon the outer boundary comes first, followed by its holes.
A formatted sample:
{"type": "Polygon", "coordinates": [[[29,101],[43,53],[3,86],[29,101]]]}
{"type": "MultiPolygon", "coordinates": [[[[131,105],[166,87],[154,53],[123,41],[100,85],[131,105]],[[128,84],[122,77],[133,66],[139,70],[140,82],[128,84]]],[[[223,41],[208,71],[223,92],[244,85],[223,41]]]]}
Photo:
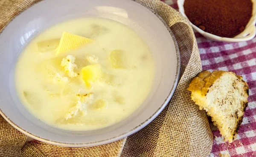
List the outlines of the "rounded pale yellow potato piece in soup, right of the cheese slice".
{"type": "Polygon", "coordinates": [[[125,68],[125,57],[122,50],[114,50],[110,54],[111,65],[113,69],[125,68]]]}

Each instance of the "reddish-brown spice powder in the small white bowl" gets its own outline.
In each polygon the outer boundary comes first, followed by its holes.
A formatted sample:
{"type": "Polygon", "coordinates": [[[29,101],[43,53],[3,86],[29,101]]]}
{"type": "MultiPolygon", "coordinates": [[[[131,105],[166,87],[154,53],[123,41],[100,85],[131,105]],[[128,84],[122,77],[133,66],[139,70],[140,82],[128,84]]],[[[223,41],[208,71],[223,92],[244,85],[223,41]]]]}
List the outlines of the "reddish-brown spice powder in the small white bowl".
{"type": "Polygon", "coordinates": [[[185,0],[189,20],[203,31],[220,37],[235,37],[252,17],[251,0],[185,0]]]}

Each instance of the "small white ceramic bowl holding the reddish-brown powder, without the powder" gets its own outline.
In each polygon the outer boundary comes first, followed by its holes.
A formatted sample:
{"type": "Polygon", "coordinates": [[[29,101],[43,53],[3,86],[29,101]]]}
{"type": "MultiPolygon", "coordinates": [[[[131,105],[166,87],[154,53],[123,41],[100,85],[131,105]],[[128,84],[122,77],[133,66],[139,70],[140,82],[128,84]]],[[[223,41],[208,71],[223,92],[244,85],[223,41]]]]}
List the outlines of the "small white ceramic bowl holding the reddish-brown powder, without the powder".
{"type": "MultiPolygon", "coordinates": [[[[179,7],[180,14],[182,14],[184,17],[186,17],[185,11],[184,11],[184,4],[185,0],[177,0],[177,4],[179,7]]],[[[236,37],[228,38],[228,37],[219,37],[214,34],[207,33],[201,29],[199,29],[197,26],[195,26],[193,23],[190,22],[193,29],[198,31],[200,34],[202,34],[204,37],[215,40],[215,41],[224,41],[224,42],[241,42],[241,41],[247,41],[253,39],[256,35],[256,0],[252,0],[253,2],[253,15],[248,22],[247,26],[245,27],[244,31],[242,31],[240,34],[238,34],[236,37]]]]}

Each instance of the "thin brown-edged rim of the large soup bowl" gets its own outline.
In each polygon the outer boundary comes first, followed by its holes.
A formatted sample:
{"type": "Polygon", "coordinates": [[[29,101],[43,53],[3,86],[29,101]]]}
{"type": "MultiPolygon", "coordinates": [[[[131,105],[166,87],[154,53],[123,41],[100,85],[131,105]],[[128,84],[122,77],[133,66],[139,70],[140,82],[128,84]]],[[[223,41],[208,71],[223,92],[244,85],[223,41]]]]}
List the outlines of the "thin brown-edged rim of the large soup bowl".
{"type": "MultiPolygon", "coordinates": [[[[40,1],[38,3],[35,3],[33,6],[38,5],[40,3],[44,3],[44,1],[40,1]]],[[[10,120],[9,117],[7,117],[3,113],[1,108],[0,108],[0,114],[3,116],[3,118],[9,124],[11,124],[14,128],[16,128],[18,131],[22,132],[23,134],[26,134],[27,136],[31,137],[34,140],[38,140],[38,141],[41,141],[41,142],[44,142],[44,143],[48,143],[48,144],[52,144],[52,145],[57,145],[57,146],[65,146],[65,147],[99,146],[99,145],[104,145],[104,144],[108,144],[108,143],[113,143],[113,142],[121,140],[121,139],[123,139],[125,137],[128,137],[131,134],[136,133],[137,131],[140,131],[142,128],[144,128],[149,123],[151,123],[163,111],[163,109],[167,106],[167,104],[169,103],[169,101],[171,100],[171,98],[172,98],[172,96],[173,96],[173,94],[175,92],[175,89],[177,87],[178,80],[179,80],[179,77],[180,77],[180,51],[179,51],[179,47],[178,47],[178,44],[177,44],[177,41],[175,39],[174,34],[172,33],[172,31],[171,31],[170,27],[167,25],[167,23],[162,19],[162,17],[160,17],[160,15],[158,15],[155,11],[153,11],[149,7],[144,6],[143,4],[141,4],[139,2],[134,2],[133,0],[131,0],[131,3],[140,4],[142,7],[145,7],[146,9],[150,10],[153,14],[155,14],[155,16],[163,23],[163,25],[169,31],[169,34],[171,35],[171,37],[173,39],[175,50],[176,50],[177,66],[176,66],[176,74],[175,74],[175,79],[174,79],[173,86],[170,89],[170,92],[169,92],[168,96],[166,97],[166,99],[164,100],[163,104],[160,106],[160,108],[157,109],[157,111],[154,112],[154,114],[152,114],[150,117],[148,117],[148,119],[145,120],[144,122],[142,122],[139,126],[133,128],[131,130],[128,130],[128,131],[126,131],[123,134],[119,134],[116,137],[112,137],[110,139],[96,141],[96,142],[90,142],[90,143],[64,143],[64,142],[57,142],[57,141],[48,140],[48,139],[45,139],[45,138],[42,138],[42,137],[38,137],[37,135],[32,134],[29,131],[24,130],[23,128],[18,126],[16,123],[14,123],[12,120],[10,120]]],[[[33,6],[31,6],[31,7],[33,7],[33,6]]],[[[29,7],[26,10],[24,10],[23,12],[21,12],[16,17],[20,16],[21,14],[24,14],[24,12],[28,11],[31,7],[29,7]]],[[[12,21],[10,23],[12,23],[12,21]]],[[[6,27],[8,27],[8,25],[9,25],[9,23],[6,25],[6,27]]]]}

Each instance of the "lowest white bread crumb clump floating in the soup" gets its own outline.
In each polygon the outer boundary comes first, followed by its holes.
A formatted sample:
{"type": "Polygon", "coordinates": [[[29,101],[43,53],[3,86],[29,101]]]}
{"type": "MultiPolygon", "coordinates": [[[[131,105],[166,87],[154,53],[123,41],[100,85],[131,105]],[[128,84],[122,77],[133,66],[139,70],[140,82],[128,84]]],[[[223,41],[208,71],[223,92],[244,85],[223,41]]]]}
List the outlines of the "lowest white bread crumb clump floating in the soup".
{"type": "Polygon", "coordinates": [[[68,120],[78,114],[79,111],[83,111],[84,114],[87,114],[86,108],[93,102],[93,93],[85,94],[85,95],[76,95],[78,97],[78,101],[76,106],[71,108],[69,112],[65,115],[65,119],[68,120]]]}

